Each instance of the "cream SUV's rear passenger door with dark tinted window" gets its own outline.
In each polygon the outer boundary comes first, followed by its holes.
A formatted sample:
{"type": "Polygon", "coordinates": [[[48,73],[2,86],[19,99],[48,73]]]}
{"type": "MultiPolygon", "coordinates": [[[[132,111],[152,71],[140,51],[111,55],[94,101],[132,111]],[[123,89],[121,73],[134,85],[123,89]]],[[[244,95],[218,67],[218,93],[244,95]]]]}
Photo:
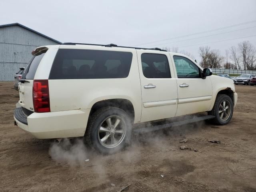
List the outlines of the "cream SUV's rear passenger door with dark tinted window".
{"type": "Polygon", "coordinates": [[[141,122],[174,117],[177,83],[170,55],[163,51],[137,50],[142,91],[141,122]]]}

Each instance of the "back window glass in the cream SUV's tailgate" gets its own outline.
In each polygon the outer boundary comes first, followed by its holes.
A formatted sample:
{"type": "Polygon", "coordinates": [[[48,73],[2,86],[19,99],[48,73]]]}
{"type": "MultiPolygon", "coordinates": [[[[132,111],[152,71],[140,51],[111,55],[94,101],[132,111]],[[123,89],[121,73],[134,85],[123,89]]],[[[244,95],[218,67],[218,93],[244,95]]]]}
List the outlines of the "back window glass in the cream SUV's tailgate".
{"type": "Polygon", "coordinates": [[[34,79],[37,67],[46,51],[47,50],[45,50],[44,52],[39,52],[38,54],[35,54],[33,56],[32,60],[30,60],[29,64],[26,66],[22,74],[22,79],[34,79]]]}

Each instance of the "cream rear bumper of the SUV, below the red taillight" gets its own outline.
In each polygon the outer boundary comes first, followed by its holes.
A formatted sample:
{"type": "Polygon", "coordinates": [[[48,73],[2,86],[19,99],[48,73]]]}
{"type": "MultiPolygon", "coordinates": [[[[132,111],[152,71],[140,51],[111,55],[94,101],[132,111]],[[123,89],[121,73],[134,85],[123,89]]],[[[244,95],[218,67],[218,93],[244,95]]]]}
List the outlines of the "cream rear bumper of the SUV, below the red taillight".
{"type": "Polygon", "coordinates": [[[90,109],[69,110],[48,113],[32,113],[26,116],[17,116],[14,111],[14,120],[18,127],[29,132],[38,139],[68,138],[84,136],[90,109]],[[24,121],[27,119],[27,124],[24,121]]]}

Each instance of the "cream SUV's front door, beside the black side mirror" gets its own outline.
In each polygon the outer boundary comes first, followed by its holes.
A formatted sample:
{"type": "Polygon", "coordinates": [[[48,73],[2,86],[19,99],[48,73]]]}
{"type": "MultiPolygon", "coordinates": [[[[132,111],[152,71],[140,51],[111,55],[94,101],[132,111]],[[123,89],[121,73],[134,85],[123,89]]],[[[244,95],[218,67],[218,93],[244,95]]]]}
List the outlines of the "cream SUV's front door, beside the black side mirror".
{"type": "Polygon", "coordinates": [[[212,104],[210,76],[201,78],[200,68],[184,56],[172,55],[176,67],[178,108],[176,116],[208,111],[212,104]]]}

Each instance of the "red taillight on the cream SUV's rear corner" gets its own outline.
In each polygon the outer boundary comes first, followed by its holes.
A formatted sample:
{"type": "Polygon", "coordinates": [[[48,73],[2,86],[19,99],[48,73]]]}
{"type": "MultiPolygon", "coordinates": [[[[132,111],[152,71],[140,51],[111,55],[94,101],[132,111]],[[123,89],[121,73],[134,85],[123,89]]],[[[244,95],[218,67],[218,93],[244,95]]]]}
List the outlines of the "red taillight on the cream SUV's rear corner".
{"type": "Polygon", "coordinates": [[[50,96],[48,80],[34,80],[33,82],[34,111],[38,113],[50,112],[50,96]]]}

